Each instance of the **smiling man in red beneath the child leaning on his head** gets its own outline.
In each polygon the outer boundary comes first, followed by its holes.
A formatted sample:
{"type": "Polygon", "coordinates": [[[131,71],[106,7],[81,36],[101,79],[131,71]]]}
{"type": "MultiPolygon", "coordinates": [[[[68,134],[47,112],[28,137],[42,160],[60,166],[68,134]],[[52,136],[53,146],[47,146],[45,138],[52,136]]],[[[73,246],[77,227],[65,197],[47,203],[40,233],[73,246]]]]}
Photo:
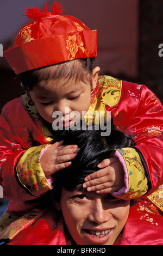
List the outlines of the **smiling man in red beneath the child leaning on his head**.
{"type": "Polygon", "coordinates": [[[111,157],[117,145],[133,145],[131,139],[117,130],[107,137],[96,130],[66,131],[60,139],[65,145],[75,142],[80,151],[70,167],[53,175],[47,208],[42,205],[13,222],[1,239],[8,245],[161,244],[163,220],[147,198],[130,203],[83,187],[84,178],[97,172],[97,164],[111,157]]]}

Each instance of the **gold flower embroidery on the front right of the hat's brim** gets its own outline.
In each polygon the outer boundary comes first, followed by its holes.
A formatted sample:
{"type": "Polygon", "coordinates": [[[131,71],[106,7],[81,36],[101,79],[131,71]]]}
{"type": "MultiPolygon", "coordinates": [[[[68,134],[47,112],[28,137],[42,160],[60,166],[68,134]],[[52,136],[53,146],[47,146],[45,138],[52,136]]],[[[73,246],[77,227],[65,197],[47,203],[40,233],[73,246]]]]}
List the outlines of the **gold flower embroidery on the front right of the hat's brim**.
{"type": "Polygon", "coordinates": [[[79,48],[82,50],[82,52],[85,52],[85,49],[83,47],[82,39],[80,38],[80,45],[77,45],[77,36],[76,35],[69,35],[68,40],[66,40],[66,48],[70,53],[68,54],[68,59],[74,59],[76,57],[76,53],[79,51],[79,48]]]}

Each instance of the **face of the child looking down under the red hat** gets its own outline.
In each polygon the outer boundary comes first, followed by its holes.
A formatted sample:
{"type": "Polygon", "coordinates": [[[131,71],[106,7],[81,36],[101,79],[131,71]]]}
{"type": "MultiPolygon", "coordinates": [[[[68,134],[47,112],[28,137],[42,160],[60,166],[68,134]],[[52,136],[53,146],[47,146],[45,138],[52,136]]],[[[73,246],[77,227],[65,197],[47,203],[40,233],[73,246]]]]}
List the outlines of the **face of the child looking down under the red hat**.
{"type": "Polygon", "coordinates": [[[53,112],[60,111],[62,113],[63,126],[71,125],[72,111],[78,111],[82,118],[82,111],[87,111],[91,101],[91,84],[82,81],[75,82],[73,80],[60,84],[54,84],[49,80],[41,87],[35,86],[29,91],[37,110],[41,117],[53,123],[55,118],[52,117],[53,112]],[[65,112],[68,109],[68,112],[65,112]],[[70,115],[70,117],[69,117],[70,115]]]}

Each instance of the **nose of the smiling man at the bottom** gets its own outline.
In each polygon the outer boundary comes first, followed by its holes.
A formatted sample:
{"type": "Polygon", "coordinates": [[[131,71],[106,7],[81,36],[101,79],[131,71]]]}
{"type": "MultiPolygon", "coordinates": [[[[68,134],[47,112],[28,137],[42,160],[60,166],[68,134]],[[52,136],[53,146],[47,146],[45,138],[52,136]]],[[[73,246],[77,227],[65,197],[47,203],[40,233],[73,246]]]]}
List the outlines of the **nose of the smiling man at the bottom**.
{"type": "Polygon", "coordinates": [[[108,221],[109,216],[108,210],[104,209],[102,200],[100,198],[96,199],[88,215],[89,221],[102,224],[108,221]]]}

